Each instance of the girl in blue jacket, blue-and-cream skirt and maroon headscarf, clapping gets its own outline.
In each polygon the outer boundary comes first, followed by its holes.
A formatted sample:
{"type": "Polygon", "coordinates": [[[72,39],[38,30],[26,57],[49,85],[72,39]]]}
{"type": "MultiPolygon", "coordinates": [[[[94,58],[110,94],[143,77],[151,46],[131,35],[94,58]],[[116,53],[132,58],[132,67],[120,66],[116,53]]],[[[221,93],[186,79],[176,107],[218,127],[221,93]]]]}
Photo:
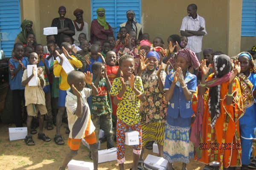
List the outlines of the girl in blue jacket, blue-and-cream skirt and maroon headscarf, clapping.
{"type": "Polygon", "coordinates": [[[191,127],[192,95],[196,92],[197,78],[189,73],[192,66],[200,65],[195,53],[187,48],[177,52],[175,57],[176,71],[166,76],[164,91],[167,109],[165,135],[163,142],[163,158],[169,161],[169,169],[173,162],[183,162],[182,170],[186,170],[189,159],[194,157],[194,147],[189,142],[191,127]]]}

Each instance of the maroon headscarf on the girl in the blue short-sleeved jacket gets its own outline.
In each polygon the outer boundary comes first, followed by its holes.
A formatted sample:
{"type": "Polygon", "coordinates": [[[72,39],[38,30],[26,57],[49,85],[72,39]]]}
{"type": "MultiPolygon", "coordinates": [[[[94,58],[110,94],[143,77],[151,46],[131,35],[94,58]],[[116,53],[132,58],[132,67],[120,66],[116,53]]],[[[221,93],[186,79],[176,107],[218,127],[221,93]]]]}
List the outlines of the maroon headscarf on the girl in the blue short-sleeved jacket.
{"type": "Polygon", "coordinates": [[[198,69],[198,67],[200,66],[200,62],[198,61],[195,53],[188,48],[183,48],[179,50],[176,56],[183,57],[186,59],[187,62],[191,62],[192,67],[194,67],[195,69],[198,69]]]}

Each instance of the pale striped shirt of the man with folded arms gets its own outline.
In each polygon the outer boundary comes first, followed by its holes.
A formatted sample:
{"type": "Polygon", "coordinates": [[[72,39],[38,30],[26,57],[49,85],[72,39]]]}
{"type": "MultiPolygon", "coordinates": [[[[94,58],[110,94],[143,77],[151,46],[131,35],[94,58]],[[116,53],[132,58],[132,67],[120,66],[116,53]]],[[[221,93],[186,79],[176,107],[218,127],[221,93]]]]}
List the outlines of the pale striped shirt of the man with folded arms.
{"type": "MultiPolygon", "coordinates": [[[[204,28],[205,35],[207,35],[207,31],[205,28],[205,20],[203,17],[197,14],[197,18],[195,20],[192,17],[186,16],[182,20],[182,24],[180,27],[180,31],[191,30],[191,31],[198,31],[200,27],[204,28]]],[[[200,53],[202,51],[202,40],[203,36],[191,36],[188,38],[188,45],[186,48],[194,51],[195,53],[200,53]]]]}

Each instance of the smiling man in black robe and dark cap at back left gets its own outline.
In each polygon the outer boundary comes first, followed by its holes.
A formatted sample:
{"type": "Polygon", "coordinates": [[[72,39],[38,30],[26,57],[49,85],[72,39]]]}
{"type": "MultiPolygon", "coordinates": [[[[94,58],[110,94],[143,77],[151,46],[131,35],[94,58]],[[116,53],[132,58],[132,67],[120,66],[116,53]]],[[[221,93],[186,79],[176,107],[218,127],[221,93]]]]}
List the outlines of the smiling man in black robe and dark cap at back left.
{"type": "Polygon", "coordinates": [[[72,20],[69,18],[65,18],[66,14],[66,7],[60,6],[58,8],[58,14],[60,17],[54,18],[52,20],[52,27],[58,28],[58,34],[55,35],[55,41],[58,44],[58,46],[61,46],[61,43],[63,42],[63,36],[68,35],[72,38],[73,35],[75,35],[75,26],[72,23],[72,20]]]}

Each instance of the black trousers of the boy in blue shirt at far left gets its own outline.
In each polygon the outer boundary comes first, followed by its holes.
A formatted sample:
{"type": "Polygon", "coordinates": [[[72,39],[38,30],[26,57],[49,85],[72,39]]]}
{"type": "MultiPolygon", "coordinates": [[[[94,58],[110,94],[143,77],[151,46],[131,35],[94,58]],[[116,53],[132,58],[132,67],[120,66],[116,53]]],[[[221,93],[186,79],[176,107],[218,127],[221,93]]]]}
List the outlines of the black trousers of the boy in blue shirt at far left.
{"type": "Polygon", "coordinates": [[[25,105],[24,90],[13,90],[12,91],[12,103],[13,103],[13,116],[16,127],[23,127],[21,101],[25,105]]]}

